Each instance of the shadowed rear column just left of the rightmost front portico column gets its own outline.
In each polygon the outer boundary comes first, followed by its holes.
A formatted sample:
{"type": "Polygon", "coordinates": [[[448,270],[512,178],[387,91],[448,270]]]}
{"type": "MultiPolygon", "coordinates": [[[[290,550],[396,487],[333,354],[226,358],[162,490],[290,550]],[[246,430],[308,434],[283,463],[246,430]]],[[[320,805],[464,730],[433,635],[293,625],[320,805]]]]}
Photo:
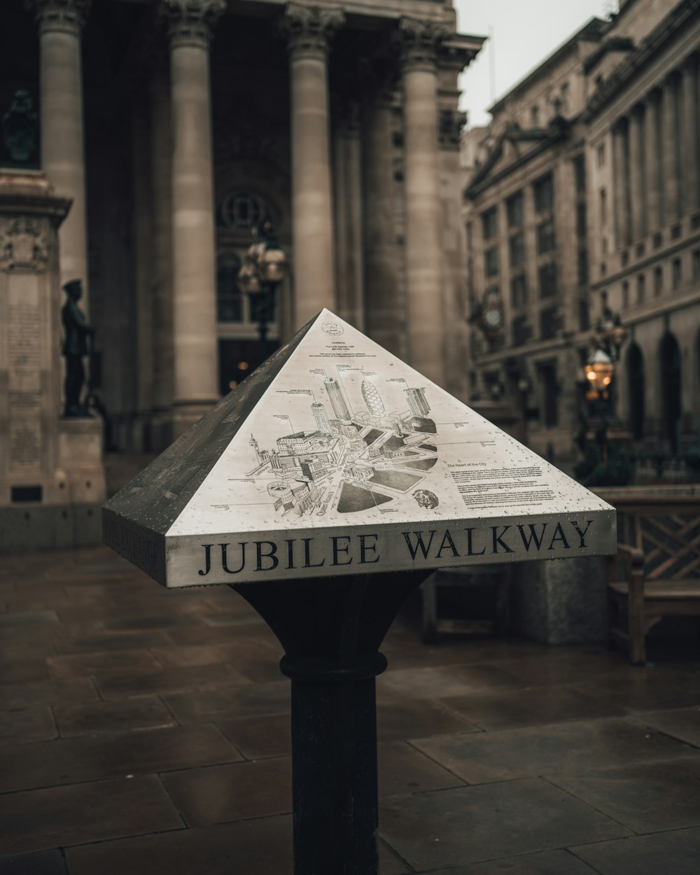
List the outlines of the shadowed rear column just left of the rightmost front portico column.
{"type": "Polygon", "coordinates": [[[362,163],[364,171],[365,321],[367,334],[390,353],[406,357],[404,307],[399,297],[396,245],[392,93],[371,83],[373,97],[364,103],[362,163]]]}

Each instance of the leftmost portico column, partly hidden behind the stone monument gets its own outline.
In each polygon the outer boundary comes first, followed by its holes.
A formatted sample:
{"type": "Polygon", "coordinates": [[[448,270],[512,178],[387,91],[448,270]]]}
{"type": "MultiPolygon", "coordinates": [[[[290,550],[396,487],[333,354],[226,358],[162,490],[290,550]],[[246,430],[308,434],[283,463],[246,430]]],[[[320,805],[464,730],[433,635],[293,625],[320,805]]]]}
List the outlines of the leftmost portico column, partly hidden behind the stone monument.
{"type": "Polygon", "coordinates": [[[81,279],[88,307],[81,33],[90,0],[31,0],[39,32],[41,166],[73,207],[59,228],[60,282],[81,279]]]}

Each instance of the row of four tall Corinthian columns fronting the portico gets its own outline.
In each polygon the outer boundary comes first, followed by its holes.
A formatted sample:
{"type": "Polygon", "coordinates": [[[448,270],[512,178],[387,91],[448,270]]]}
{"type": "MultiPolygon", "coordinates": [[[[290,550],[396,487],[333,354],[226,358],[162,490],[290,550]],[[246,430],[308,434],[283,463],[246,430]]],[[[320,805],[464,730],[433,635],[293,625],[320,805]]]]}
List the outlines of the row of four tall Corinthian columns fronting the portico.
{"type": "MultiPolygon", "coordinates": [[[[42,166],[73,207],[61,228],[61,277],[88,280],[82,119],[81,28],[90,0],[33,0],[41,51],[42,166]]],[[[156,99],[153,142],[172,126],[169,198],[164,151],[151,161],[154,207],[154,402],[172,391],[173,437],[217,395],[214,193],[209,44],[226,0],[161,0],[170,41],[170,118],[156,99]],[[155,128],[158,127],[158,130],[155,128]],[[169,215],[163,213],[169,205],[169,215]],[[165,236],[170,235],[168,246],[165,236]],[[171,258],[171,269],[165,265],[171,258]],[[166,303],[172,285],[172,314],[166,303]],[[165,337],[171,331],[172,337],[165,337]],[[166,360],[172,355],[172,386],[166,360]]],[[[343,24],[339,11],[288,4],[292,228],[297,327],[322,307],[336,307],[335,238],[329,144],[328,52],[343,24]]],[[[400,25],[405,121],[406,290],[408,356],[431,380],[443,382],[441,256],[437,142],[437,50],[444,31],[429,22],[400,25]]],[[[162,145],[162,144],[159,144],[162,145]]],[[[356,144],[359,145],[359,144],[356,144]]],[[[359,158],[359,149],[353,152],[359,158]]],[[[383,168],[382,168],[383,172],[383,168]]],[[[390,174],[390,172],[389,172],[390,174]]],[[[390,176],[389,176],[390,178],[390,176]]],[[[355,205],[357,206],[357,205],[355,205]]],[[[353,234],[359,238],[355,209],[353,234]]],[[[382,210],[384,233],[393,216],[382,210]]],[[[355,243],[357,248],[357,243],[355,243]]],[[[357,297],[355,295],[355,297],[357,297]]],[[[356,307],[355,302],[355,307],[356,307]]],[[[394,315],[387,312],[384,321],[394,315]]]]}

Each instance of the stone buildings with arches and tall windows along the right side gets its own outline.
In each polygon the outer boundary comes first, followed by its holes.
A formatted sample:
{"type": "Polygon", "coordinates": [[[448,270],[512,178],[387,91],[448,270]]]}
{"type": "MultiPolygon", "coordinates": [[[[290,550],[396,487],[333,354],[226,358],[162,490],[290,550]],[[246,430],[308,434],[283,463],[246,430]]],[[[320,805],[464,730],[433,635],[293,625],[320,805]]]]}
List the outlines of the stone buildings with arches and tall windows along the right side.
{"type": "Polygon", "coordinates": [[[472,400],[508,403],[518,437],[564,465],[606,305],[627,327],[613,402],[634,450],[697,444],[699,46],[696,0],[627,0],[496,103],[479,134],[463,207],[472,400]]]}

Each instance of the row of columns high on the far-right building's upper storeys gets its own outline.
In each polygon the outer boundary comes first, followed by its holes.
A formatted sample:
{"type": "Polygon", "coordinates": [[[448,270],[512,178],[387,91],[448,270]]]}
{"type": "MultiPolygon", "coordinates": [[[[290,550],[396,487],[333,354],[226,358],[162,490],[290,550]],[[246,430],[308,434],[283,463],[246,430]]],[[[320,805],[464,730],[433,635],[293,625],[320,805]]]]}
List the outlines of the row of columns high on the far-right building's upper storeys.
{"type": "Polygon", "coordinates": [[[690,56],[613,128],[619,248],[700,207],[699,96],[690,56]]]}

